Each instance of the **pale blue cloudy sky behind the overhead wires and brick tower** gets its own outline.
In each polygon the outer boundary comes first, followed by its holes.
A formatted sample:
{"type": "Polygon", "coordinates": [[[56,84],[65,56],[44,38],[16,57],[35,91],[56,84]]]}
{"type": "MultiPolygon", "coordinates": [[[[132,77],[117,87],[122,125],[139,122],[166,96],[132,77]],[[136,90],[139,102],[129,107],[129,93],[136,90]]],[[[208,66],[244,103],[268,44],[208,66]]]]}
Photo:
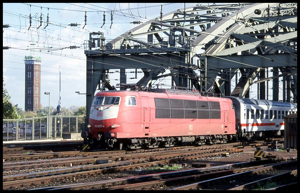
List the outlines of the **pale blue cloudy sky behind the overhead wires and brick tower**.
{"type": "MultiPolygon", "coordinates": [[[[3,77],[11,102],[18,104],[22,110],[25,109],[24,57],[35,55],[42,60],[42,107],[49,104],[49,95],[44,92],[50,92],[50,106],[58,105],[59,85],[61,107],[85,106],[85,95],[75,92],[86,92],[86,57],[83,43],[89,39],[89,33],[103,32],[107,40],[114,39],[137,26],[130,22],[145,22],[159,17],[161,5],[163,14],[184,8],[184,3],[3,3],[3,25],[10,26],[3,28],[3,46],[10,47],[3,50],[3,77]],[[104,11],[106,21],[103,25],[104,11]],[[111,11],[114,11],[113,24],[111,11]],[[80,25],[70,26],[71,23],[80,25]],[[79,48],[65,48],[70,46],[79,48]]],[[[186,3],[186,7],[195,5],[186,3]]],[[[131,74],[128,73],[127,76],[129,78],[131,74]]],[[[110,74],[114,85],[119,83],[114,81],[117,78],[119,74],[110,74]]],[[[127,82],[136,83],[131,81],[128,79],[127,82]]]]}

